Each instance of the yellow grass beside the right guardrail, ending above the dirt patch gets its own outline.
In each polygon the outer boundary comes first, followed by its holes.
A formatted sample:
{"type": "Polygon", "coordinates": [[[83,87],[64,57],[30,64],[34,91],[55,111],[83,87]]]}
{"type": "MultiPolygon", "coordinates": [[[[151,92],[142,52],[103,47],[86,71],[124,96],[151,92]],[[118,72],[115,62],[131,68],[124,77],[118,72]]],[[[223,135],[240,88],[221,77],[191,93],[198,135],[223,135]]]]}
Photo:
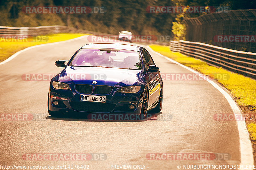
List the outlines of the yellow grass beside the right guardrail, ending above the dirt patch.
{"type": "Polygon", "coordinates": [[[183,65],[191,67],[211,78],[216,79],[220,84],[234,96],[239,106],[256,108],[256,81],[243,75],[232,73],[222,68],[217,68],[206,64],[205,62],[193,57],[188,57],[178,52],[170,51],[169,47],[150,45],[154,51],[167,56],[183,65]],[[229,79],[218,79],[216,74],[228,74],[229,79]]]}

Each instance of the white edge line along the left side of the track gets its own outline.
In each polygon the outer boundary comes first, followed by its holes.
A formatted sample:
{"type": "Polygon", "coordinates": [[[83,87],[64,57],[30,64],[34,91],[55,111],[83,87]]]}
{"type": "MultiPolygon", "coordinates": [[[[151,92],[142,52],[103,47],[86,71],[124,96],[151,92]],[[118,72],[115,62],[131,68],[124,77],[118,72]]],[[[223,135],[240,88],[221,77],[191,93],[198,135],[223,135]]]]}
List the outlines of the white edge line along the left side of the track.
{"type": "Polygon", "coordinates": [[[58,41],[58,42],[52,42],[52,43],[46,43],[46,44],[39,44],[39,45],[35,45],[35,46],[31,46],[31,47],[28,47],[28,48],[24,48],[16,53],[14,53],[12,56],[10,56],[9,58],[7,58],[6,60],[2,61],[0,63],[0,65],[2,64],[5,64],[9,61],[11,61],[13,58],[15,58],[17,55],[19,55],[20,53],[24,52],[24,51],[27,51],[29,49],[32,49],[32,48],[36,48],[36,47],[43,47],[43,46],[47,46],[47,45],[54,45],[54,44],[60,44],[60,43],[65,43],[65,42],[70,42],[70,41],[75,41],[75,40],[79,40],[79,39],[83,39],[85,38],[86,36],[88,35],[83,35],[81,37],[76,37],[76,38],[73,38],[73,39],[70,39],[70,40],[65,40],[65,41],[58,41]]]}

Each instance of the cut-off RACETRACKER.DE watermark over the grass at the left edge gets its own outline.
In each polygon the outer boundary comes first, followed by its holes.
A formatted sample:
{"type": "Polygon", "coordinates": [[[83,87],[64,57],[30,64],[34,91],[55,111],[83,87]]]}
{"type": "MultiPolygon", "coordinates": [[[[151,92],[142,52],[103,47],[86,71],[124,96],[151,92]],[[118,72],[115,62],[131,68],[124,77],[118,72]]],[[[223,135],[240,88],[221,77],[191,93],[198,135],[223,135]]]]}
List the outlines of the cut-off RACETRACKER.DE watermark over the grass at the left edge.
{"type": "Polygon", "coordinates": [[[0,42],[47,42],[47,35],[31,36],[31,35],[1,35],[0,42]]]}

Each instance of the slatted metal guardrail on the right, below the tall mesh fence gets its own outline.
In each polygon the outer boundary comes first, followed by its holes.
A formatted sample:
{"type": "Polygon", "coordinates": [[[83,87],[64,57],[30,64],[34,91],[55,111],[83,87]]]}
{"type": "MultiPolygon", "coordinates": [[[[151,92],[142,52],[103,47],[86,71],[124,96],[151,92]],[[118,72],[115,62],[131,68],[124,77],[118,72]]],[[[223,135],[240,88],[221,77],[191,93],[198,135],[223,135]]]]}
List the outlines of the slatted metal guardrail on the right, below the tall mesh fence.
{"type": "Polygon", "coordinates": [[[170,50],[198,58],[207,64],[256,79],[256,53],[191,41],[170,41],[170,50]]]}

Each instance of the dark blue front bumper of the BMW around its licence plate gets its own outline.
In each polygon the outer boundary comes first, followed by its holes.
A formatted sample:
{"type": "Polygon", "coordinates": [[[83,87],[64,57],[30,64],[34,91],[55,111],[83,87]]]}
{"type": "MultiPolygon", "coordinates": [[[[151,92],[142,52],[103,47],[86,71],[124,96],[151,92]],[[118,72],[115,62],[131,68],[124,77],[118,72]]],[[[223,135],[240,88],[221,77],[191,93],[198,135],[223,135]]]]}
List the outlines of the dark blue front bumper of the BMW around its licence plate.
{"type": "Polygon", "coordinates": [[[83,94],[75,90],[75,85],[69,86],[70,90],[58,90],[50,85],[48,97],[50,111],[140,115],[144,92],[144,87],[142,86],[137,93],[120,93],[117,92],[118,88],[113,87],[112,91],[107,95],[94,94],[93,92],[91,94],[83,94]],[[81,94],[106,96],[106,103],[80,101],[81,94]],[[56,100],[59,102],[57,106],[53,105],[53,102],[56,100]],[[131,110],[129,105],[134,105],[135,108],[131,110]]]}

